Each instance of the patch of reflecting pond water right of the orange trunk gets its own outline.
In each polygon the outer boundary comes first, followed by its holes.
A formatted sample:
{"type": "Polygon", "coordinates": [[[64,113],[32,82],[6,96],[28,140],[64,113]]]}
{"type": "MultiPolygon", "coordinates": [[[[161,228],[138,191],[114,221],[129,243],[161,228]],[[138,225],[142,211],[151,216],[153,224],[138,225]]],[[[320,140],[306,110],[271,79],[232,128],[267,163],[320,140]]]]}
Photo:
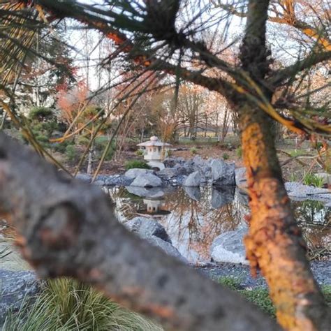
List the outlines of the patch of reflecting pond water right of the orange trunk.
{"type": "Polygon", "coordinates": [[[331,210],[320,201],[306,200],[292,203],[295,219],[302,228],[302,235],[307,242],[311,256],[314,252],[331,251],[331,210]]]}

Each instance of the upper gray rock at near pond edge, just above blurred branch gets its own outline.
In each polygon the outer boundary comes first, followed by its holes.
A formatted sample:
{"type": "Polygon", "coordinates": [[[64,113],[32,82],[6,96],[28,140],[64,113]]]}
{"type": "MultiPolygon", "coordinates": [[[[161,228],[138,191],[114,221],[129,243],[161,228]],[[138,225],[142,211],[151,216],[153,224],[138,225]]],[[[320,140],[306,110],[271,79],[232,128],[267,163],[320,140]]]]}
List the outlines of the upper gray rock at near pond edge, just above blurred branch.
{"type": "Polygon", "coordinates": [[[171,239],[168,233],[165,231],[165,228],[161,226],[161,224],[154,219],[147,219],[147,217],[135,217],[130,221],[124,223],[124,226],[128,228],[133,233],[137,233],[139,237],[147,239],[149,237],[155,236],[164,240],[165,242],[169,242],[171,239]]]}

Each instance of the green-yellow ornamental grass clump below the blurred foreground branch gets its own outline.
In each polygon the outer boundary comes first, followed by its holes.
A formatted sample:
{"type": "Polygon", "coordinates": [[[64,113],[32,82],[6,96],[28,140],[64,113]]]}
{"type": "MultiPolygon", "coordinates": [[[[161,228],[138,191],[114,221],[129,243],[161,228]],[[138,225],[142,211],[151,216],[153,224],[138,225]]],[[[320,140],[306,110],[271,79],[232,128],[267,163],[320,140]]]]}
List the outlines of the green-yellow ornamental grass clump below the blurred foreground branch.
{"type": "Polygon", "coordinates": [[[41,295],[16,314],[8,314],[3,331],[11,330],[122,330],[162,329],[108,300],[107,297],[73,279],[48,280],[41,295]]]}

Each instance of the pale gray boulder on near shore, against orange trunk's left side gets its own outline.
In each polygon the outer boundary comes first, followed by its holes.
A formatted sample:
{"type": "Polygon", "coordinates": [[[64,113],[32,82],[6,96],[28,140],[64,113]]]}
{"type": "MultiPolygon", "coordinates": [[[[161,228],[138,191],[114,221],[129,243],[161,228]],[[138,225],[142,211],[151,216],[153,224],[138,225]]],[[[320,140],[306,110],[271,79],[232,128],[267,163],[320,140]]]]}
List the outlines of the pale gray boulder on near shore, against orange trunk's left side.
{"type": "Polygon", "coordinates": [[[222,233],[215,238],[210,247],[210,255],[215,262],[248,264],[244,247],[244,236],[248,228],[222,233]]]}

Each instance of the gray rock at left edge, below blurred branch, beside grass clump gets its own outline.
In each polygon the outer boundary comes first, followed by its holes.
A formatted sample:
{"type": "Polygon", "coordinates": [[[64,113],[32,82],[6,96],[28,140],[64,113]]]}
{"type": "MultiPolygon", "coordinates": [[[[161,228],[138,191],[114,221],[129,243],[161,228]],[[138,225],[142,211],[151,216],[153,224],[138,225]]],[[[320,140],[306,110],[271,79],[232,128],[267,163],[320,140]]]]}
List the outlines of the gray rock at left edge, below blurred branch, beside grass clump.
{"type": "Polygon", "coordinates": [[[17,311],[23,300],[36,295],[41,289],[41,281],[31,271],[13,272],[0,270],[1,300],[0,325],[3,324],[9,309],[17,311]]]}

